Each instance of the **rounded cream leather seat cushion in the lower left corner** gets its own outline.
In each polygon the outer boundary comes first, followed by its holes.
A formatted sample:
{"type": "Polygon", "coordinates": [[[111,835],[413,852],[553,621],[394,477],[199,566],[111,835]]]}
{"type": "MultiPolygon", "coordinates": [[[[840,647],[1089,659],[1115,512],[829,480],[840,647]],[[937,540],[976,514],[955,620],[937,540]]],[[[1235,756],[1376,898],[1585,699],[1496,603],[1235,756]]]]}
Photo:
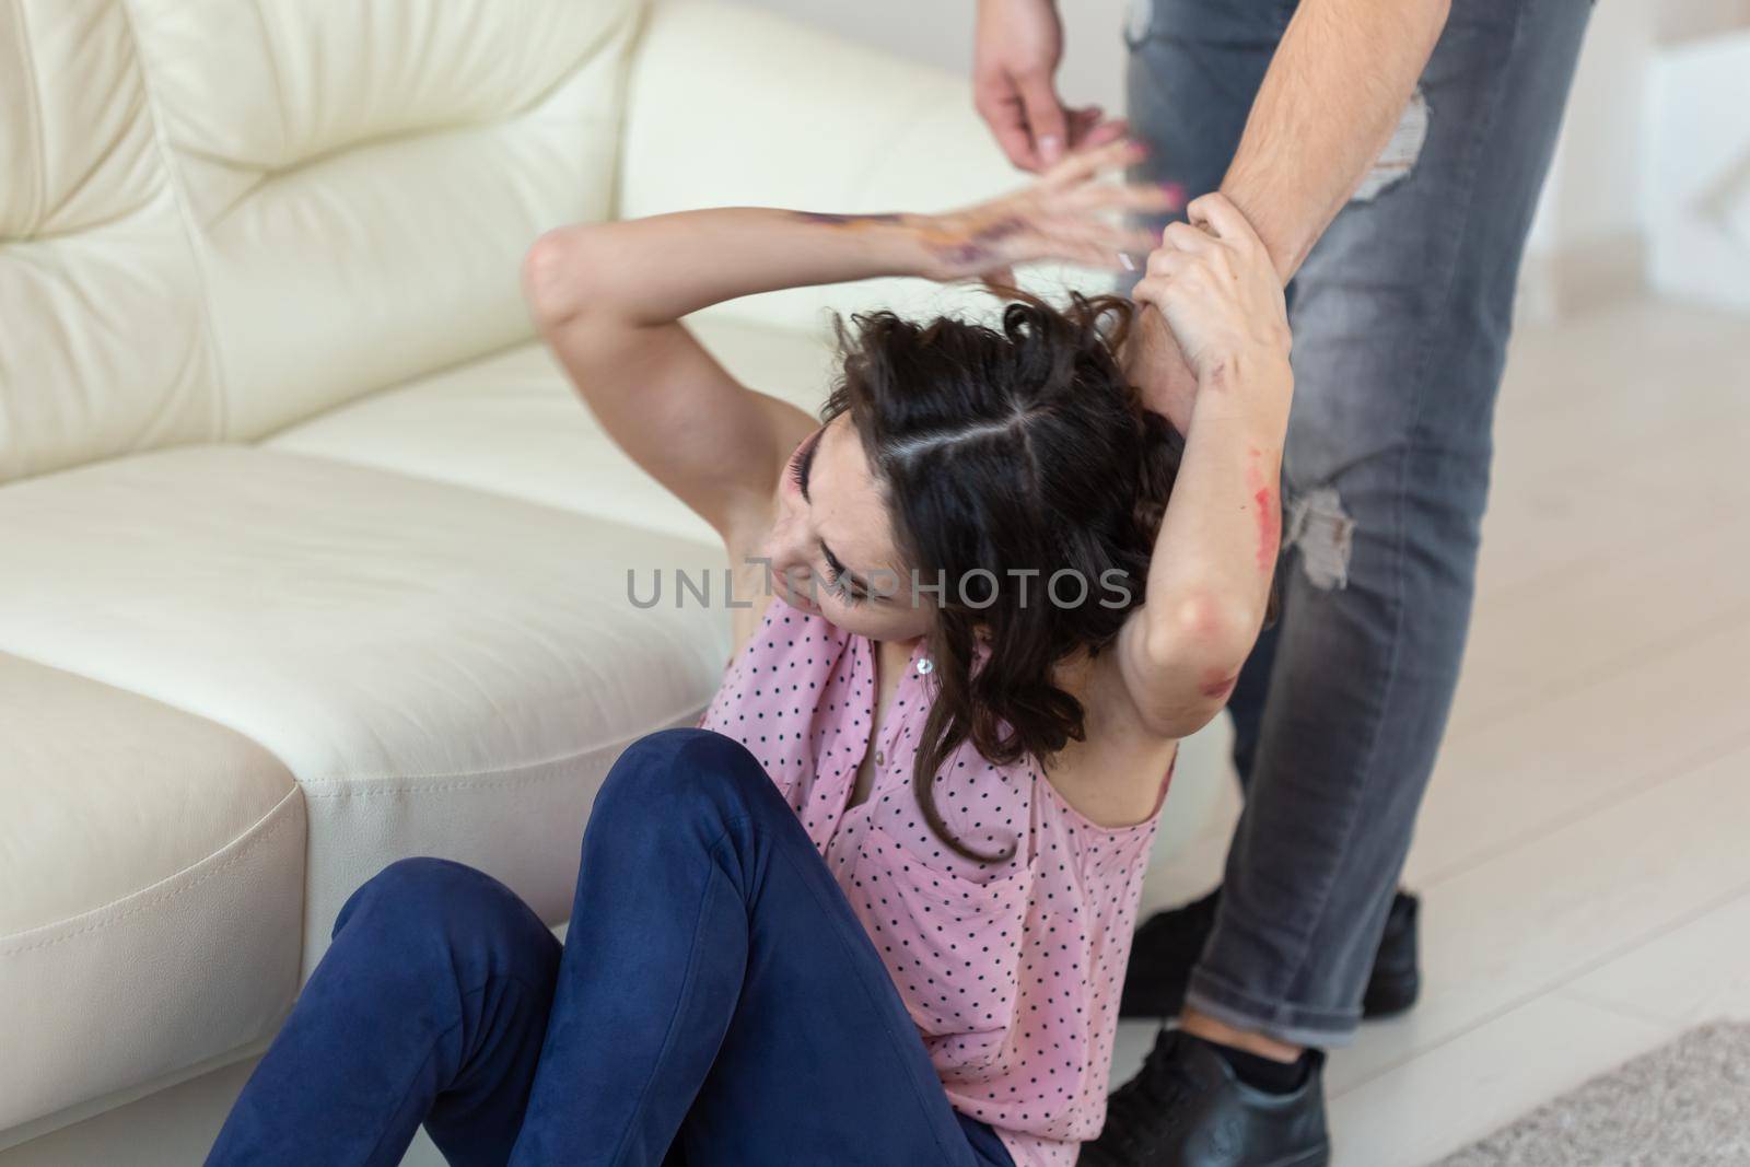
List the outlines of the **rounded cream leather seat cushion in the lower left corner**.
{"type": "Polygon", "coordinates": [[[0,1130],[271,1032],[303,899],[268,751],[0,654],[0,1130]]]}

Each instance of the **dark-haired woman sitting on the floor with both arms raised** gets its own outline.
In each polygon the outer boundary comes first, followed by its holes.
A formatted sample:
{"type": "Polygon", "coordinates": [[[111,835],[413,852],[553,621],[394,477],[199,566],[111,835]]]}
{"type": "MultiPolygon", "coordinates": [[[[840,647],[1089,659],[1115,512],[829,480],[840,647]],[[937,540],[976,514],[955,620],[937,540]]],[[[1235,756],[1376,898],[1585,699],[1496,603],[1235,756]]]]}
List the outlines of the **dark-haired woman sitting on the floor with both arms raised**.
{"type": "MultiPolygon", "coordinates": [[[[1115,266],[1157,189],[1111,142],[950,215],[705,210],[555,231],[541,331],[723,535],[735,656],[637,742],[564,948],[438,859],[359,889],[214,1164],[1071,1164],[1099,1132],[1178,738],[1265,616],[1288,420],[1274,268],[1223,198],[1148,261],[1199,376],[1132,387],[1132,306],[854,317],[817,423],[679,318],[772,289],[1115,266]],[[1185,439],[1180,439],[1180,432],[1185,439]],[[940,584],[940,586],[938,586],[940,584]],[[765,598],[770,597],[770,598],[765,598]]],[[[1138,378],[1148,381],[1146,369],[1138,378]]]]}

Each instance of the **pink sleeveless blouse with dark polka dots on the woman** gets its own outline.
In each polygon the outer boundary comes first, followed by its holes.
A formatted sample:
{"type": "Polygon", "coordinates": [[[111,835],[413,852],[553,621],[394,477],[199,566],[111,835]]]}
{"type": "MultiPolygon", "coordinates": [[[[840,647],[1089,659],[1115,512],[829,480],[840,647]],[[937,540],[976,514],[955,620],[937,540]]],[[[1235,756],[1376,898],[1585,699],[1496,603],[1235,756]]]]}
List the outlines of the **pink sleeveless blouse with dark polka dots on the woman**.
{"type": "MultiPolygon", "coordinates": [[[[1076,814],[1034,759],[962,745],[936,807],[976,863],[943,847],[912,793],[931,661],[912,653],[875,721],[875,649],[777,597],[700,726],[747,745],[796,810],[900,989],[948,1102],[990,1123],[1018,1167],[1068,1167],[1099,1134],[1118,992],[1160,803],[1108,829],[1076,814]],[[847,810],[866,751],[868,798],[847,810]]],[[[1166,798],[1171,766],[1162,777],[1166,798]]]]}

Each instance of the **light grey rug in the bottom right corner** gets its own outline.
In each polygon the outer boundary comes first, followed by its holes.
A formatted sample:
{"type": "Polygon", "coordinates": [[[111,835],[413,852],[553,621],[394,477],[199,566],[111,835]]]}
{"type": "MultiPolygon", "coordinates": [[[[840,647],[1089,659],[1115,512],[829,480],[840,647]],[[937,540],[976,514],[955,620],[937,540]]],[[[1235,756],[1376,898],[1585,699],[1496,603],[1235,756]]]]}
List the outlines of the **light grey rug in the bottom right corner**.
{"type": "Polygon", "coordinates": [[[1750,1164],[1750,1025],[1692,1029],[1438,1167],[1750,1164]]]}

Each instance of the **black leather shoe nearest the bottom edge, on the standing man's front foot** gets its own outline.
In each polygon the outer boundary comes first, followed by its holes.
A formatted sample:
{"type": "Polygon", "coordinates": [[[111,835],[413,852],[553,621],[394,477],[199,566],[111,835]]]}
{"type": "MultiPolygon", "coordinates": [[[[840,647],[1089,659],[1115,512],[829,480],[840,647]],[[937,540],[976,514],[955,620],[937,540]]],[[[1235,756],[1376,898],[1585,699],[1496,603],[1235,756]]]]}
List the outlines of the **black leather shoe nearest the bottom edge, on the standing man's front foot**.
{"type": "Polygon", "coordinates": [[[1253,1090],[1213,1048],[1162,1029],[1141,1073],[1106,1104],[1080,1167],[1326,1167],[1325,1055],[1293,1094],[1253,1090]]]}

